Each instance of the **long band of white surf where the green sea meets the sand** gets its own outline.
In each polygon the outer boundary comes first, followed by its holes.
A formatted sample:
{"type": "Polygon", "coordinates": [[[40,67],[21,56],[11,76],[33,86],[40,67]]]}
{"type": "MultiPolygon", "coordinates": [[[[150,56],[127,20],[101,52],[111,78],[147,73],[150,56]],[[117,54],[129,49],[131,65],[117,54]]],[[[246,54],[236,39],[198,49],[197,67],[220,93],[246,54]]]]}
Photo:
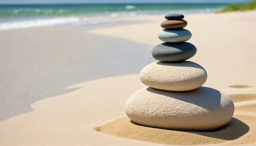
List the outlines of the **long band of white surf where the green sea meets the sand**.
{"type": "Polygon", "coordinates": [[[133,17],[161,16],[167,13],[182,13],[187,15],[213,14],[217,9],[195,9],[195,10],[169,10],[169,11],[130,11],[130,12],[107,12],[105,15],[71,15],[71,16],[33,16],[24,18],[11,18],[5,22],[5,18],[0,18],[0,31],[12,29],[24,29],[31,27],[47,26],[74,26],[81,27],[87,25],[102,25],[104,23],[115,24],[117,21],[126,21],[133,17]]]}

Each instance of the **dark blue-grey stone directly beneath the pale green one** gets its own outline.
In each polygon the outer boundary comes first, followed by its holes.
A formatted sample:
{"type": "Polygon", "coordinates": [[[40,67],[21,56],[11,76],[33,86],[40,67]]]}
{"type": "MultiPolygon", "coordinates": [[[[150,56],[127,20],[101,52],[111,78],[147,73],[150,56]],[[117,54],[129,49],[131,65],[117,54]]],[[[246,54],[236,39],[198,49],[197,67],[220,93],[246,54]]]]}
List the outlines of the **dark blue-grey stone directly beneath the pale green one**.
{"type": "Polygon", "coordinates": [[[152,56],[159,61],[184,61],[197,53],[197,48],[189,43],[161,43],[152,50],[152,56]]]}

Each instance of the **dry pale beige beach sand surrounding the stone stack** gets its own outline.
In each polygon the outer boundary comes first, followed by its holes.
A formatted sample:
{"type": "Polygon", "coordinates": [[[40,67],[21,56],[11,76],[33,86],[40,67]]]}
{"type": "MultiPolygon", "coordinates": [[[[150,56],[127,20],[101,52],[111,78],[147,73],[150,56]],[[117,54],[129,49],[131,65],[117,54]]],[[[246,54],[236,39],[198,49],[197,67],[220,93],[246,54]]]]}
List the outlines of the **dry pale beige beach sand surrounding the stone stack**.
{"type": "MultiPolygon", "coordinates": [[[[192,38],[189,42],[197,46],[198,49],[197,54],[190,61],[200,64],[208,73],[208,79],[204,86],[216,88],[228,95],[256,94],[256,68],[254,68],[256,62],[254,57],[256,53],[254,47],[256,38],[255,15],[256,11],[185,16],[185,20],[188,22],[186,29],[192,32],[192,38]],[[251,85],[254,87],[228,87],[232,85],[251,85]]],[[[141,23],[85,31],[152,45],[152,48],[161,43],[157,38],[157,33],[161,30],[160,23],[163,21],[163,17],[138,16],[127,19],[140,20],[141,23]]],[[[10,45],[11,43],[13,42],[10,41],[10,45]]],[[[76,43],[76,45],[79,45],[79,42],[76,43]]],[[[24,45],[26,45],[25,42],[24,45]]],[[[226,128],[207,134],[166,132],[166,130],[163,130],[165,133],[161,131],[162,129],[157,131],[159,134],[168,136],[172,134],[169,140],[166,137],[150,135],[150,133],[144,131],[142,133],[140,133],[141,131],[134,132],[136,136],[121,134],[120,137],[117,137],[104,134],[104,130],[106,130],[104,128],[98,128],[103,133],[94,130],[95,127],[101,125],[111,125],[109,124],[111,122],[108,121],[112,121],[117,123],[114,125],[116,128],[108,127],[108,129],[109,132],[114,134],[118,131],[117,128],[124,124],[122,122],[126,122],[127,125],[121,128],[130,133],[129,126],[137,125],[129,123],[127,118],[120,119],[119,117],[125,115],[124,105],[129,96],[143,87],[145,85],[141,83],[137,74],[96,79],[67,87],[76,90],[35,102],[31,105],[34,111],[0,122],[0,145],[164,146],[163,143],[167,142],[174,145],[218,145],[219,143],[222,143],[222,145],[255,145],[256,113],[254,111],[249,112],[247,109],[235,110],[234,115],[235,118],[243,122],[240,122],[245,126],[243,130],[240,130],[240,126],[234,124],[235,128],[226,128]],[[120,123],[114,119],[123,121],[120,123]],[[249,127],[249,131],[245,124],[249,127]],[[235,134],[235,130],[240,131],[239,135],[236,135],[237,137],[232,136],[235,134]],[[142,134],[147,135],[144,139],[140,139],[143,141],[128,139],[141,138],[143,137],[142,134]],[[227,136],[226,134],[231,135],[227,136]],[[125,135],[129,137],[121,138],[125,135]],[[183,136],[187,139],[184,139],[183,136]],[[172,137],[174,138],[171,139],[172,137]],[[184,140],[184,143],[182,143],[182,140],[184,140]]],[[[255,102],[255,99],[241,100],[241,102],[235,102],[235,108],[239,106],[250,107],[255,102]]],[[[137,127],[146,131],[155,130],[141,126],[137,127]]],[[[136,130],[138,129],[136,128],[136,130]]]]}

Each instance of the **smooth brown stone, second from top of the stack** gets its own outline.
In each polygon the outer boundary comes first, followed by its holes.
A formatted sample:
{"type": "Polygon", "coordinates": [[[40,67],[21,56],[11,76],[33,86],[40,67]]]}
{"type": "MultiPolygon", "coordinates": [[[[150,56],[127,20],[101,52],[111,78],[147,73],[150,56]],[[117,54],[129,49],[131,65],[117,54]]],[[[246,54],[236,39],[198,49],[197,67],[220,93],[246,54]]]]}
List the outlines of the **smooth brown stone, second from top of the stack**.
{"type": "Polygon", "coordinates": [[[165,20],[161,23],[161,27],[165,29],[177,29],[187,26],[186,20],[165,20]]]}

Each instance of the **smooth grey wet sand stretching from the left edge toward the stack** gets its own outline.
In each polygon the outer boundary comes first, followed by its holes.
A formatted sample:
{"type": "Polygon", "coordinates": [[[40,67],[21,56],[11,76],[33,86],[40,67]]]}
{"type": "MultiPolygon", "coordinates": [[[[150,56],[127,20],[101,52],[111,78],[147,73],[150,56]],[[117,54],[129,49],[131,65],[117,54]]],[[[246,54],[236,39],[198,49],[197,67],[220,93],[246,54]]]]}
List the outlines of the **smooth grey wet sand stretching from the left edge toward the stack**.
{"type": "Polygon", "coordinates": [[[0,32],[0,121],[32,111],[30,105],[36,101],[74,91],[66,86],[136,74],[154,61],[152,46],[83,30],[41,27],[0,32]]]}

